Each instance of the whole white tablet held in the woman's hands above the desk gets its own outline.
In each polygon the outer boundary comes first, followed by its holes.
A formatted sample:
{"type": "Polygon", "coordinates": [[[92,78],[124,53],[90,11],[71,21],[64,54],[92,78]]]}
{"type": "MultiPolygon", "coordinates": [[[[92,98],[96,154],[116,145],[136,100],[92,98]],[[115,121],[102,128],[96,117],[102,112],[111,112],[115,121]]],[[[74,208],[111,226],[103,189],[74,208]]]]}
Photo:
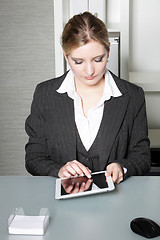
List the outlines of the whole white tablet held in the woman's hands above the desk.
{"type": "Polygon", "coordinates": [[[55,198],[66,199],[114,190],[112,178],[107,177],[106,181],[105,172],[94,172],[91,178],[76,176],[56,179],[55,198]]]}

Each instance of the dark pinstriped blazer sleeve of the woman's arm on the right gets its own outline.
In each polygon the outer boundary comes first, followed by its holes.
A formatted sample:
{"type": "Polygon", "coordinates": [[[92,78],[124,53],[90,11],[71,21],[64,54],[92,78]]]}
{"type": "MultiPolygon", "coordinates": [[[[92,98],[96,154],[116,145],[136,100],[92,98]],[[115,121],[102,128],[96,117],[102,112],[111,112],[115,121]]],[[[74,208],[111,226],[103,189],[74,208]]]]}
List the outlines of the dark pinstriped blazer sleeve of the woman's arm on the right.
{"type": "Polygon", "coordinates": [[[132,96],[128,115],[129,112],[134,112],[134,114],[130,121],[130,137],[126,158],[117,160],[117,162],[127,168],[125,177],[146,175],[151,167],[151,155],[145,97],[140,87],[138,87],[137,94],[132,96]]]}

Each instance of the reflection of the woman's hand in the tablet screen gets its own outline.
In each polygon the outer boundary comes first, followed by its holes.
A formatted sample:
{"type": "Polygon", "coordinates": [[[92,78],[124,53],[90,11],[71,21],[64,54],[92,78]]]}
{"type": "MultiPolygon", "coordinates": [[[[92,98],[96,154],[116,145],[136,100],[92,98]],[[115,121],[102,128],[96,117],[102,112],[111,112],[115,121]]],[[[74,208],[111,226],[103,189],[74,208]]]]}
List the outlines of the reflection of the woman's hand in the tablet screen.
{"type": "Polygon", "coordinates": [[[62,179],[62,186],[66,193],[79,193],[85,192],[89,189],[93,179],[87,177],[77,177],[62,179]]]}

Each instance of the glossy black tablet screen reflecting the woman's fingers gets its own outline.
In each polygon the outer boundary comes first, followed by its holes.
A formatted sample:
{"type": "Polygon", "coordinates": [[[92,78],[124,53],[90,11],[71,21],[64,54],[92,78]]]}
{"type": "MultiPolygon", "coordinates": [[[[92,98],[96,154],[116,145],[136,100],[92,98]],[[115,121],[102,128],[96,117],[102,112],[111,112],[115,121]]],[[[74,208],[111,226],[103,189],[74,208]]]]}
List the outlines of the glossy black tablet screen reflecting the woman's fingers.
{"type": "Polygon", "coordinates": [[[78,176],[61,180],[61,195],[98,191],[103,188],[108,188],[104,173],[93,174],[92,178],[78,176]]]}

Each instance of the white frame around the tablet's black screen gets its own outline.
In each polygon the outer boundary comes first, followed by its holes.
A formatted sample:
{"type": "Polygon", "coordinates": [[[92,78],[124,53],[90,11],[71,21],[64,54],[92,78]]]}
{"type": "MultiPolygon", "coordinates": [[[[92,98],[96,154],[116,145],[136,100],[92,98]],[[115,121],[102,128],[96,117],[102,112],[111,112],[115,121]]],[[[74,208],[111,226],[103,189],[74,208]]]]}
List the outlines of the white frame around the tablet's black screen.
{"type": "MultiPolygon", "coordinates": [[[[91,175],[95,175],[95,174],[102,174],[102,173],[106,173],[106,171],[100,171],[100,172],[94,172],[91,175]]],[[[76,176],[78,177],[78,176],[76,176]]],[[[72,177],[72,178],[76,178],[76,177],[72,177]]],[[[90,190],[90,191],[86,191],[86,192],[80,192],[80,193],[71,193],[71,194],[67,194],[67,195],[61,195],[61,180],[63,179],[68,179],[68,178],[57,178],[56,179],[56,186],[55,186],[55,199],[67,199],[67,198],[74,198],[74,197],[81,197],[81,196],[86,196],[86,195],[92,195],[92,194],[98,194],[98,193],[103,193],[103,192],[109,192],[109,191],[113,191],[115,189],[112,177],[107,177],[107,184],[108,187],[107,188],[102,188],[102,189],[98,189],[98,190],[90,190]]]]}

